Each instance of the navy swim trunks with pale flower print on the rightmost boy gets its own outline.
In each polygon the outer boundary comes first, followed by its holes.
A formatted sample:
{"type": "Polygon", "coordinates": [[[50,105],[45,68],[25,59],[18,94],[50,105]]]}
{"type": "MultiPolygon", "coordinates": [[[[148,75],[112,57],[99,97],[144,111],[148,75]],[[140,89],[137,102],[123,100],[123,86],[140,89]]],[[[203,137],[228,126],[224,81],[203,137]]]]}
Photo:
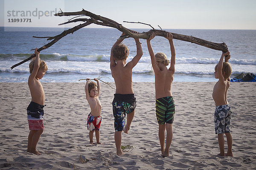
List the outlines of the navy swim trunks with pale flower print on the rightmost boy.
{"type": "Polygon", "coordinates": [[[230,119],[232,110],[230,105],[216,106],[214,113],[215,134],[230,133],[230,119]]]}

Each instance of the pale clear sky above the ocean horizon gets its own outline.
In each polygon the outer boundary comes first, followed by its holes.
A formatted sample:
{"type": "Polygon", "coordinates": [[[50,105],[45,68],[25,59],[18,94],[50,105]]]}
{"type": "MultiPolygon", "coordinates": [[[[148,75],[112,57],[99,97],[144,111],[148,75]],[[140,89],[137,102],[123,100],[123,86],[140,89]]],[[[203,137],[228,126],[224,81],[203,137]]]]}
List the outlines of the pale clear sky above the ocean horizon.
{"type": "Polygon", "coordinates": [[[59,23],[72,17],[53,16],[59,8],[65,12],[84,8],[126,28],[151,29],[123,21],[157,29],[157,25],[163,29],[256,29],[256,0],[0,0],[0,26],[60,27],[59,23]]]}

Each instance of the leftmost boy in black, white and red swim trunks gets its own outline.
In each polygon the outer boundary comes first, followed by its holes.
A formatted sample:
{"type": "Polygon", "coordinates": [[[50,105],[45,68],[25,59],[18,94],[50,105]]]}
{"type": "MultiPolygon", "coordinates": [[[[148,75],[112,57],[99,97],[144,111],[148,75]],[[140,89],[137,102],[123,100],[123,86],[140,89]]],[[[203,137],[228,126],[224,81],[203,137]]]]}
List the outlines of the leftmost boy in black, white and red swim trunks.
{"type": "Polygon", "coordinates": [[[36,150],[36,145],[41,134],[44,131],[44,89],[39,81],[48,70],[46,63],[39,58],[39,52],[35,48],[35,59],[29,63],[29,90],[32,100],[27,107],[27,116],[29,122],[29,137],[27,152],[40,155],[36,150]]]}

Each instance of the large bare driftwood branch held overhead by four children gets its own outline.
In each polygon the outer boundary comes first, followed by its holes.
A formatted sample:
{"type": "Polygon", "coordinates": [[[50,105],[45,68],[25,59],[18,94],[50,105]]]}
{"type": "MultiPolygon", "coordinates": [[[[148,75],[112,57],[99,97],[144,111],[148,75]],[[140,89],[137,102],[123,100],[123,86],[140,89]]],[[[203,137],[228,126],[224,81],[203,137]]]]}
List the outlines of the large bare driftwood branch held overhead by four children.
{"type": "MultiPolygon", "coordinates": [[[[84,9],[82,11],[77,11],[77,12],[61,12],[61,13],[55,14],[55,16],[60,16],[60,17],[61,16],[90,17],[90,19],[73,17],[69,21],[67,21],[65,23],[61,23],[59,25],[64,25],[64,24],[67,24],[67,23],[75,23],[75,22],[84,22],[84,23],[80,24],[78,26],[75,26],[73,28],[70,28],[68,30],[65,30],[61,34],[58,34],[54,37],[35,37],[35,38],[47,38],[47,40],[52,40],[48,44],[39,48],[38,52],[40,52],[40,51],[42,51],[46,48],[49,48],[50,46],[52,46],[53,44],[58,42],[58,40],[60,40],[62,37],[65,37],[67,34],[70,34],[70,33],[73,34],[75,31],[79,30],[80,28],[88,26],[92,23],[94,23],[96,25],[116,28],[119,31],[124,32],[125,35],[119,37],[119,39],[125,39],[125,38],[130,38],[130,37],[140,38],[140,39],[148,39],[153,31],[154,31],[156,36],[166,37],[166,34],[167,34],[167,32],[163,31],[162,28],[161,28],[161,30],[156,30],[150,24],[145,24],[145,23],[142,23],[142,24],[151,26],[151,28],[153,28],[153,30],[143,32],[143,33],[132,33],[132,30],[130,30],[128,28],[125,28],[124,26],[122,26],[122,24],[119,24],[116,21],[108,19],[106,17],[102,17],[100,15],[93,14],[90,11],[86,11],[84,9]],[[74,19],[74,18],[76,18],[76,19],[74,19]]],[[[140,22],[137,22],[137,23],[140,23],[140,22]]],[[[207,47],[207,48],[212,48],[214,50],[227,52],[227,45],[224,42],[223,43],[215,43],[215,42],[210,42],[210,41],[203,40],[203,39],[200,39],[200,38],[197,38],[197,37],[192,37],[192,36],[187,36],[187,35],[182,35],[182,34],[176,34],[176,33],[172,33],[172,35],[173,35],[173,38],[176,39],[176,40],[192,42],[192,43],[202,45],[202,46],[207,47]]],[[[11,67],[11,69],[17,67],[18,65],[23,64],[24,62],[29,61],[33,57],[35,57],[35,54],[32,54],[29,58],[23,60],[22,62],[19,62],[19,63],[13,65],[11,67]]]]}

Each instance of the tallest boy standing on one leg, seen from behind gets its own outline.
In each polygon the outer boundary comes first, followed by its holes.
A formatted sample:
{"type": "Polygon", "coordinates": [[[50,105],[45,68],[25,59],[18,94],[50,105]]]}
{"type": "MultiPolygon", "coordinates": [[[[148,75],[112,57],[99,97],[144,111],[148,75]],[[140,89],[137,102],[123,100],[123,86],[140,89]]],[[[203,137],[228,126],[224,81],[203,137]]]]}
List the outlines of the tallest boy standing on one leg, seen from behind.
{"type": "MultiPolygon", "coordinates": [[[[133,31],[133,33],[137,33],[133,31]]],[[[125,35],[122,33],[121,36],[125,35]]],[[[129,49],[122,44],[122,40],[117,40],[111,48],[110,69],[112,77],[116,84],[116,94],[114,94],[113,116],[115,127],[115,144],[116,154],[121,156],[122,130],[128,133],[132,119],[134,117],[134,109],[136,107],[136,98],[134,97],[132,83],[132,68],[139,62],[143,55],[141,42],[138,38],[134,38],[137,46],[136,56],[126,64],[126,59],[129,55],[129,49]],[[125,65],[126,64],[126,65],[125,65]],[[127,114],[127,123],[125,125],[125,115],[127,114]]]]}

